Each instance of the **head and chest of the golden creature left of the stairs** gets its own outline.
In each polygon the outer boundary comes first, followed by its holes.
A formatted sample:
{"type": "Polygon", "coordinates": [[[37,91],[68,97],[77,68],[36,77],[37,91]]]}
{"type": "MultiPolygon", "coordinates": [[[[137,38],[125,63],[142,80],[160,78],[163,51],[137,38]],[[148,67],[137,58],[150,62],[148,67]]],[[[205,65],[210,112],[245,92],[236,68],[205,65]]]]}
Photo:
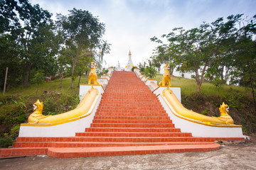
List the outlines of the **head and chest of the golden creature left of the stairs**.
{"type": "Polygon", "coordinates": [[[38,120],[47,118],[48,116],[50,115],[43,115],[43,102],[37,100],[36,103],[33,104],[33,113],[28,116],[28,123],[36,124],[38,120]]]}

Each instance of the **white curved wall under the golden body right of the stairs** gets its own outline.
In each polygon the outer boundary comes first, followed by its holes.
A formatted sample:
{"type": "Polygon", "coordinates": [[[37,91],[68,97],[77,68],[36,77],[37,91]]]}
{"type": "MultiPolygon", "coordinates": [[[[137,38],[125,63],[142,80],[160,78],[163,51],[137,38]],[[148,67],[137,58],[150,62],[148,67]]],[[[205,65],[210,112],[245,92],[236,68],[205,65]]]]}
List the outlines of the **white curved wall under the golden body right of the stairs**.
{"type": "Polygon", "coordinates": [[[171,108],[166,98],[161,94],[158,98],[164,110],[175,124],[175,127],[180,128],[181,132],[191,132],[193,137],[244,137],[242,135],[242,128],[213,127],[178,118],[174,115],[175,111],[171,108]]]}

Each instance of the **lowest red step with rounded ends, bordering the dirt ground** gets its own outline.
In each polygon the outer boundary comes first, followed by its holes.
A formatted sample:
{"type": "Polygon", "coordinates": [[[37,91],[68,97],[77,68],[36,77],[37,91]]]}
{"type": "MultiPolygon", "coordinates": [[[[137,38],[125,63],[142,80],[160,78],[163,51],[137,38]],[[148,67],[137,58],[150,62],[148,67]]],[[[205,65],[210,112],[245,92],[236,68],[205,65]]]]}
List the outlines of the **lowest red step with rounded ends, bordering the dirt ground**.
{"type": "Polygon", "coordinates": [[[200,152],[219,149],[220,145],[211,143],[208,145],[161,145],[161,146],[137,146],[137,147],[50,147],[48,155],[57,158],[71,157],[102,157],[132,154],[159,154],[166,152],[200,152]]]}

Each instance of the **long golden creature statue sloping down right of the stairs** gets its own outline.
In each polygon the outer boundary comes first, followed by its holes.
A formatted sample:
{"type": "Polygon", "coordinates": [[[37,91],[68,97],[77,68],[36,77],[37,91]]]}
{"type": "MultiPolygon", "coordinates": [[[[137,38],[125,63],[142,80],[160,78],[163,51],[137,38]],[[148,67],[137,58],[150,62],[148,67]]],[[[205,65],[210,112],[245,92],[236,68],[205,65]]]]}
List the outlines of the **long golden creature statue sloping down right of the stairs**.
{"type": "Polygon", "coordinates": [[[231,118],[230,115],[228,115],[228,105],[226,105],[224,102],[222,105],[220,105],[220,117],[210,117],[207,115],[202,115],[200,113],[196,113],[193,111],[189,111],[188,109],[184,108],[183,105],[178,101],[178,98],[176,98],[175,94],[171,89],[164,89],[163,95],[166,98],[166,100],[169,102],[172,108],[174,108],[174,115],[198,123],[201,122],[206,125],[212,125],[212,126],[232,126],[237,127],[240,125],[234,125],[234,120],[231,118]]]}

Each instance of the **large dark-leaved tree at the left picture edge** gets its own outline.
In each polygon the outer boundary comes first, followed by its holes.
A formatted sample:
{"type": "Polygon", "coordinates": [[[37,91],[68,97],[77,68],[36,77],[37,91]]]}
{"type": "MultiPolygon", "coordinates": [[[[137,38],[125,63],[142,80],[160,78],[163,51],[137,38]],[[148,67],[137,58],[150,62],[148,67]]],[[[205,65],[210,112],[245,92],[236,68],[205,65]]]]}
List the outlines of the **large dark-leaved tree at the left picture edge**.
{"type": "MultiPolygon", "coordinates": [[[[6,51],[15,51],[16,56],[7,52],[3,58],[14,58],[24,67],[23,86],[28,85],[31,69],[44,69],[46,74],[53,73],[55,68],[55,54],[59,49],[59,39],[53,33],[51,14],[40,8],[38,4],[32,6],[28,0],[4,0],[0,3],[2,47],[11,43],[6,51]],[[4,39],[5,38],[5,39],[4,39]]],[[[58,36],[57,36],[58,37],[58,36]]],[[[11,68],[11,67],[10,67],[11,68]]],[[[10,72],[11,77],[13,76],[10,72]]]]}

